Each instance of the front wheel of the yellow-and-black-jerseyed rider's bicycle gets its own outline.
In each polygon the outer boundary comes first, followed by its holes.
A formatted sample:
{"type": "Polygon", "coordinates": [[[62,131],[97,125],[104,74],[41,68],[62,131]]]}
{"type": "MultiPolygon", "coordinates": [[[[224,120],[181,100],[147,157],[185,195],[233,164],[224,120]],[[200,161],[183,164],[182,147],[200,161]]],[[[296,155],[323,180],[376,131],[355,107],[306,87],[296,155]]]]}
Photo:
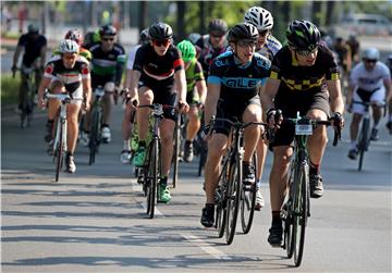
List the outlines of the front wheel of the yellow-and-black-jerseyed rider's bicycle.
{"type": "Polygon", "coordinates": [[[295,266],[299,266],[304,253],[305,246],[305,231],[308,216],[308,201],[309,201],[309,171],[308,165],[305,162],[302,162],[298,170],[298,182],[299,186],[297,187],[296,198],[294,199],[294,226],[293,234],[295,234],[294,239],[294,263],[295,266]]]}

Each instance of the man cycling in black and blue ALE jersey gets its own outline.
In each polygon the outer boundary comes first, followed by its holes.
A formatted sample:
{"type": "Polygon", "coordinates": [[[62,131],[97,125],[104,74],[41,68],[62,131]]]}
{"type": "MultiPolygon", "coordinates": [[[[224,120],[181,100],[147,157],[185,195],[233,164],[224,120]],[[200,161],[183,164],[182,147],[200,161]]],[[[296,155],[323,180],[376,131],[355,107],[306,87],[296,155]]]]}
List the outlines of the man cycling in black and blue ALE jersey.
{"type": "MultiPolygon", "coordinates": [[[[261,121],[259,92],[268,77],[270,61],[255,52],[258,39],[257,28],[241,23],[230,29],[228,40],[232,50],[219,55],[212,62],[208,76],[208,92],[205,108],[205,122],[209,124],[212,115],[247,122],[261,121]]],[[[208,128],[208,126],[207,126],[208,128]]],[[[213,224],[215,190],[218,185],[222,154],[228,146],[231,126],[226,122],[215,124],[208,140],[206,162],[206,206],[201,211],[201,224],[213,224]]],[[[207,131],[207,129],[206,129],[207,131]]],[[[244,184],[255,183],[255,171],[250,164],[252,154],[260,136],[258,126],[249,126],[244,132],[244,184]]]]}

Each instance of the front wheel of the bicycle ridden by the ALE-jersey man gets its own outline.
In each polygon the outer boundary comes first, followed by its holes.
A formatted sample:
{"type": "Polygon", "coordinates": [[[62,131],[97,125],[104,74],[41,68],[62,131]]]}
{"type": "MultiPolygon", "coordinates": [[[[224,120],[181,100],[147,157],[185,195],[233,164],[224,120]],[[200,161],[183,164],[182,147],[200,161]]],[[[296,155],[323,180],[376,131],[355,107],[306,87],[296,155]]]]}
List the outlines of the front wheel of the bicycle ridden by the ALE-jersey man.
{"type": "Polygon", "coordinates": [[[242,161],[238,158],[233,161],[231,162],[232,164],[230,166],[230,176],[228,183],[228,202],[225,218],[225,239],[228,245],[232,244],[235,234],[242,185],[242,161]]]}

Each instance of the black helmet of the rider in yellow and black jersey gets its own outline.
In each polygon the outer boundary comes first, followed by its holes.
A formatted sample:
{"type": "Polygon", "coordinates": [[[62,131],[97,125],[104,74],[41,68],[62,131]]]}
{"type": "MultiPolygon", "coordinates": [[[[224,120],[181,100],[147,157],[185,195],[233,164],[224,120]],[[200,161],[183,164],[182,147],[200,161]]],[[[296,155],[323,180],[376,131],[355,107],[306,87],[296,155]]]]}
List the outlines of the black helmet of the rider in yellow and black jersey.
{"type": "Polygon", "coordinates": [[[320,42],[320,30],[311,22],[294,20],[286,29],[287,44],[297,50],[315,50],[320,42]]]}

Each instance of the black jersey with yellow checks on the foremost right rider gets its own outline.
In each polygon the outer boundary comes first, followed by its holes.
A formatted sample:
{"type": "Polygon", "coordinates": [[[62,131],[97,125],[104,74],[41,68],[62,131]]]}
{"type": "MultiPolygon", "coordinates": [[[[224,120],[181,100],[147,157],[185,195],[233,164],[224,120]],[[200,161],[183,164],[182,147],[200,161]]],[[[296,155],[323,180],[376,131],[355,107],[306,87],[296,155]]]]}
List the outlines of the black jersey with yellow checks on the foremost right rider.
{"type": "Polygon", "coordinates": [[[339,65],[333,53],[320,45],[313,66],[298,65],[289,46],[283,47],[273,58],[270,78],[280,79],[281,91],[318,91],[324,82],[339,79],[339,65]]]}

